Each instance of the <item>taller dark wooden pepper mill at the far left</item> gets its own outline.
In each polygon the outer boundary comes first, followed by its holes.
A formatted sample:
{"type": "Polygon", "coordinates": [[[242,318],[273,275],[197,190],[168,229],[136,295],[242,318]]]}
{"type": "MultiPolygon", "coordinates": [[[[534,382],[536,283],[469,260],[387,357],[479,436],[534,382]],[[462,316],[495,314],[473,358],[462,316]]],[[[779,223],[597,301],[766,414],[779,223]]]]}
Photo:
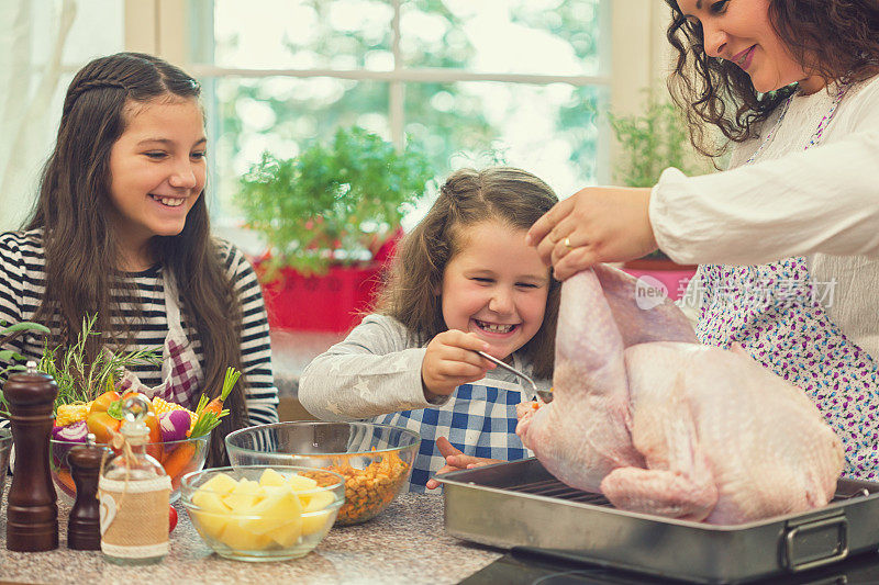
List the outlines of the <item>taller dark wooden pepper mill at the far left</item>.
{"type": "Polygon", "coordinates": [[[9,403],[15,469],[7,504],[7,549],[19,552],[58,548],[58,504],[48,471],[52,406],[58,386],[51,375],[15,372],[3,386],[9,403]]]}

